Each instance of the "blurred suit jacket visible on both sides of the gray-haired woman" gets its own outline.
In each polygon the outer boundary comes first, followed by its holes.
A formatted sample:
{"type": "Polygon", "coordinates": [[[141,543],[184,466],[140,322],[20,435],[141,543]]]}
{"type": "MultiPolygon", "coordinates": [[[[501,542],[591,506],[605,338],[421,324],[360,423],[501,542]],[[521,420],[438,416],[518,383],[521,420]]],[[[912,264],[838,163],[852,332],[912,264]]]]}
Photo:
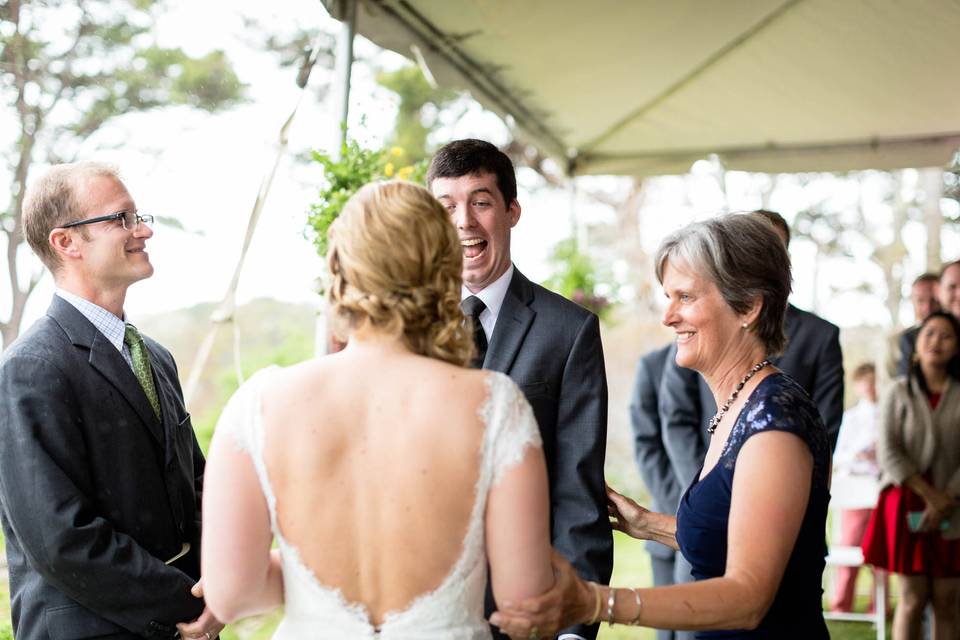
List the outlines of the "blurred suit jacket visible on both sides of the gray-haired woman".
{"type": "MultiPolygon", "coordinates": [[[[800,383],[817,405],[831,449],[843,417],[843,354],[840,330],[820,316],[787,305],[787,347],[772,362],[800,383]]],[[[667,357],[660,383],[660,421],[674,471],[686,487],[700,470],[710,442],[707,425],[717,404],[696,371],[677,366],[676,347],[667,357]]]]}

